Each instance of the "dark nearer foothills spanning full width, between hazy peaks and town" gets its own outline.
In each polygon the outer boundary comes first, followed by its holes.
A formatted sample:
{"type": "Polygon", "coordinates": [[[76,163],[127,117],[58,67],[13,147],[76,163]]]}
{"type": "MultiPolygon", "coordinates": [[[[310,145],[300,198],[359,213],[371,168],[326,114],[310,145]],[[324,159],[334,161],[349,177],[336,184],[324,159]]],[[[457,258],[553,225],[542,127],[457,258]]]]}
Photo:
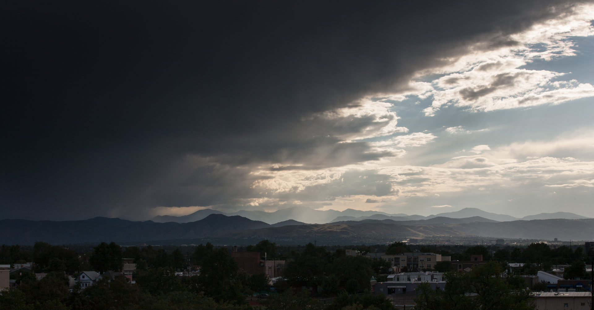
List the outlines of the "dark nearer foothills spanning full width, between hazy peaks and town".
{"type": "MultiPolygon", "coordinates": [[[[448,214],[462,216],[473,213],[475,210],[469,209],[466,212],[448,214]]],[[[482,214],[492,216],[493,213],[482,214]]],[[[567,213],[564,214],[567,215],[567,213]]],[[[541,216],[554,215],[544,213],[541,216]]],[[[304,244],[303,242],[312,240],[335,244],[369,244],[429,236],[583,240],[590,239],[594,232],[594,219],[533,219],[500,222],[482,216],[468,218],[432,216],[419,220],[402,218],[406,216],[370,215],[356,217],[356,220],[321,224],[308,224],[290,219],[272,225],[239,215],[222,214],[210,214],[206,218],[188,223],[157,223],[152,220],[140,222],[102,217],[62,222],[5,219],[0,220],[0,236],[2,236],[0,242],[26,245],[36,241],[45,241],[50,244],[163,241],[163,244],[172,244],[180,240],[189,240],[191,242],[188,243],[198,244],[206,242],[205,240],[217,239],[219,242],[226,242],[223,244],[253,244],[259,239],[267,238],[273,242],[292,242],[293,244],[295,242],[304,244]],[[381,219],[383,216],[388,218],[381,219]]]]}

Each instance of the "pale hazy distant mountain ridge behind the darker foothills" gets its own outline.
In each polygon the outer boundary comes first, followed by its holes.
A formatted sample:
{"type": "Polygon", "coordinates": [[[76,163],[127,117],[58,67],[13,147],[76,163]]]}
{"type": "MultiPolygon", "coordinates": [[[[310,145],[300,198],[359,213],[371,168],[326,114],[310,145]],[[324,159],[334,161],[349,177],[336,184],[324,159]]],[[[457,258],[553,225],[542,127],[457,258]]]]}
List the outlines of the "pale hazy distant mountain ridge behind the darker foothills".
{"type": "MultiPolygon", "coordinates": [[[[211,214],[223,214],[223,212],[212,210],[212,209],[203,209],[198,210],[194,213],[184,216],[170,216],[170,215],[159,215],[155,216],[153,222],[157,223],[166,223],[166,222],[176,222],[176,223],[189,223],[195,222],[196,220],[201,220],[206,218],[208,215],[211,214]]],[[[281,209],[275,212],[263,212],[263,211],[247,211],[247,210],[240,210],[238,212],[233,213],[224,213],[228,216],[243,216],[244,218],[248,218],[251,220],[260,220],[265,223],[278,223],[283,222],[285,220],[297,220],[303,223],[333,223],[333,222],[342,222],[345,220],[364,220],[364,219],[391,219],[391,220],[423,220],[423,219],[432,219],[438,217],[445,217],[445,218],[472,218],[473,216],[480,216],[481,218],[489,219],[489,220],[496,220],[498,222],[508,222],[512,220],[533,220],[533,219],[587,219],[586,216],[577,215],[574,213],[568,212],[556,212],[556,213],[539,213],[537,215],[529,215],[525,216],[524,218],[514,218],[510,215],[503,215],[491,212],[485,212],[481,209],[477,208],[465,208],[455,212],[444,212],[438,213],[437,215],[429,215],[429,216],[422,216],[422,215],[406,215],[404,213],[398,214],[389,214],[386,212],[380,211],[360,211],[354,209],[346,209],[343,211],[337,210],[315,210],[309,207],[290,207],[288,209],[281,209]]]]}

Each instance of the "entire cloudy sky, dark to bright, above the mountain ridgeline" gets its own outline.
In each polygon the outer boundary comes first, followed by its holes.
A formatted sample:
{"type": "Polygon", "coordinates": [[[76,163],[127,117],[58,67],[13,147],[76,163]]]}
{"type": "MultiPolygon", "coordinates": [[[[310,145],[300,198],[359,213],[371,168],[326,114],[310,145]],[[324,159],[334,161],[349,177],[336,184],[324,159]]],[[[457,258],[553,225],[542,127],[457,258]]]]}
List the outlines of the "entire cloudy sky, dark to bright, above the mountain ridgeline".
{"type": "Polygon", "coordinates": [[[0,219],[594,217],[594,2],[11,1],[0,219]]]}

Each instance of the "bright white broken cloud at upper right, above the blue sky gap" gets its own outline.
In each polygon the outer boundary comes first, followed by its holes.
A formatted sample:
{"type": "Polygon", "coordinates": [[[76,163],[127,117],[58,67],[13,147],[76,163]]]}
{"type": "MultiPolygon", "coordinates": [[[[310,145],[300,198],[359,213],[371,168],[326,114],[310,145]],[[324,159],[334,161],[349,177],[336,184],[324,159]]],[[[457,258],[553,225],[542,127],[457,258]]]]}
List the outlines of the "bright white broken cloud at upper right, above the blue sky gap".
{"type": "Polygon", "coordinates": [[[420,98],[432,97],[431,106],[423,110],[425,116],[435,116],[447,106],[494,111],[593,97],[592,84],[563,80],[566,72],[522,68],[535,60],[576,55],[572,38],[594,35],[593,19],[594,5],[576,5],[571,14],[533,24],[519,33],[495,34],[491,43],[480,41],[465,56],[448,59],[443,67],[425,69],[419,76],[443,75],[431,81],[432,90],[425,87],[416,92],[420,98]]]}

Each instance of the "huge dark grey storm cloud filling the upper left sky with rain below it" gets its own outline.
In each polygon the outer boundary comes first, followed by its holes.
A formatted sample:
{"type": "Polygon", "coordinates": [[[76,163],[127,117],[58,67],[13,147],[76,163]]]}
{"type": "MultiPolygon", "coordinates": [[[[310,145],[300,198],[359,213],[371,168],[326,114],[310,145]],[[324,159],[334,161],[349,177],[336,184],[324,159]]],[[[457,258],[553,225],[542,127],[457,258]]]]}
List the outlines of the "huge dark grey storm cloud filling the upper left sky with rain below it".
{"type": "Polygon", "coordinates": [[[511,44],[556,2],[8,2],[2,217],[140,216],[251,197],[260,164],[388,156],[338,143],[372,119],[312,116],[511,44]]]}

